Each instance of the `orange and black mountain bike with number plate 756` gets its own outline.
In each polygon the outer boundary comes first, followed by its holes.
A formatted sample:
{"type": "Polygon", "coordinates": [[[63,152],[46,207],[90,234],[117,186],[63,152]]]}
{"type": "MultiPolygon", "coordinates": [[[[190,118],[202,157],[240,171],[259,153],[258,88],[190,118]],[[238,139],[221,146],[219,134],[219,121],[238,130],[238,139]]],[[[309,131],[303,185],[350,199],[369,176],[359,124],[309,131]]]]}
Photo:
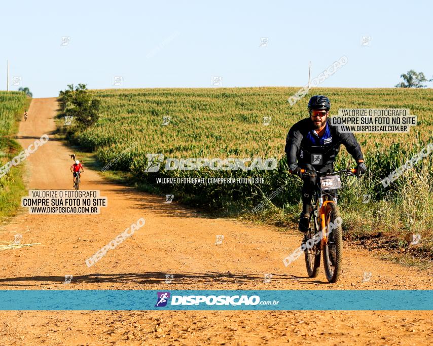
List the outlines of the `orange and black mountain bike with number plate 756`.
{"type": "Polygon", "coordinates": [[[320,172],[300,170],[300,176],[318,176],[313,194],[313,210],[310,212],[310,225],[302,240],[308,277],[315,278],[319,273],[320,254],[323,253],[323,266],[330,283],[340,277],[343,257],[343,231],[340,211],[337,206],[337,190],[341,186],[340,173],[355,175],[356,169],[320,172]],[[332,191],[334,190],[334,191],[332,191]]]}

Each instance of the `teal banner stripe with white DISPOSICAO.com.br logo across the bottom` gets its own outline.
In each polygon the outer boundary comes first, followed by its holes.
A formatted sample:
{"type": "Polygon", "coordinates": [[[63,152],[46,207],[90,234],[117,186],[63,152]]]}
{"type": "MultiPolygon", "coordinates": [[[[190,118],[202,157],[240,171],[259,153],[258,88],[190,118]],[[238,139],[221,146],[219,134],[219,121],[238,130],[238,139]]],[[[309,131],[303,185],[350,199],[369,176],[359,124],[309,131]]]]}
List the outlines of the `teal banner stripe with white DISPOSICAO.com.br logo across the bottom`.
{"type": "Polygon", "coordinates": [[[433,310],[433,290],[0,290],[0,310],[433,310]]]}

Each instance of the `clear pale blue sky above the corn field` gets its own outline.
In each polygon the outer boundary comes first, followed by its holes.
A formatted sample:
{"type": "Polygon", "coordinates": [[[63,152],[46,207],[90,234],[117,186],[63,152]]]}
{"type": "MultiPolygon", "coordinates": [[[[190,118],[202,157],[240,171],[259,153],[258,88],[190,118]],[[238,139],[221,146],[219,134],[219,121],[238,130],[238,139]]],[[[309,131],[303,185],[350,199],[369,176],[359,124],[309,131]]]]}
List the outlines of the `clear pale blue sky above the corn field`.
{"type": "Polygon", "coordinates": [[[70,83],[115,88],[114,76],[121,88],[208,88],[212,76],[223,87],[303,86],[309,60],[313,78],[343,55],[320,86],[393,87],[409,69],[433,75],[432,13],[426,1],[2,2],[0,89],[7,59],[10,83],[50,97],[70,83]]]}

